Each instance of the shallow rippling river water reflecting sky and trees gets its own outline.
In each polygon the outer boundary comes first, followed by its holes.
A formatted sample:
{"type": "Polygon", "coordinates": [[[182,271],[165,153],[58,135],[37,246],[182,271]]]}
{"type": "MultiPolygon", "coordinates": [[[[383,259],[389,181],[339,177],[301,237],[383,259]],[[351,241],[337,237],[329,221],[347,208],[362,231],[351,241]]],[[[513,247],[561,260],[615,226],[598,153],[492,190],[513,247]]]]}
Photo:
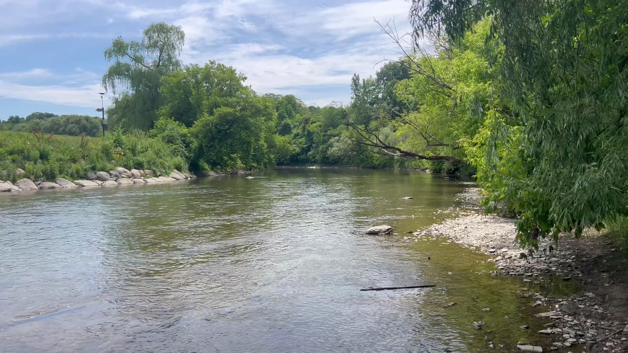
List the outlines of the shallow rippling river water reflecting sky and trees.
{"type": "Polygon", "coordinates": [[[257,176],[0,195],[0,352],[484,352],[542,324],[487,256],[404,239],[465,183],[257,176]],[[438,286],[359,291],[417,283],[438,286]]]}

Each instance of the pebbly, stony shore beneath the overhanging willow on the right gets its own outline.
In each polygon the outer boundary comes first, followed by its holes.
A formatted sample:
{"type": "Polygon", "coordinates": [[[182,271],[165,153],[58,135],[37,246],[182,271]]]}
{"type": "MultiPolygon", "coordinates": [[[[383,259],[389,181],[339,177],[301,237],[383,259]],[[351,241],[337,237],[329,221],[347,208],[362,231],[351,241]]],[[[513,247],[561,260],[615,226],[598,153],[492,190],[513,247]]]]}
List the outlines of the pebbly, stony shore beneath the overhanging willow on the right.
{"type": "MultiPolygon", "coordinates": [[[[515,221],[480,214],[475,207],[479,200],[477,192],[469,189],[461,195],[470,207],[460,217],[422,229],[414,236],[448,237],[462,246],[489,254],[491,258],[487,261],[496,265],[493,275],[521,278],[522,285],[528,288],[522,295],[533,297],[532,305],[539,308],[537,316],[548,319],[546,329],[539,333],[551,335],[554,342],[551,347],[541,347],[542,351],[628,352],[625,253],[608,237],[595,232],[581,239],[563,235],[558,244],[544,241],[539,251],[525,258],[522,254],[526,252],[515,241],[515,221]],[[543,287],[555,281],[577,281],[582,294],[541,295],[543,287]]],[[[524,343],[533,342],[521,342],[524,343]]]]}

